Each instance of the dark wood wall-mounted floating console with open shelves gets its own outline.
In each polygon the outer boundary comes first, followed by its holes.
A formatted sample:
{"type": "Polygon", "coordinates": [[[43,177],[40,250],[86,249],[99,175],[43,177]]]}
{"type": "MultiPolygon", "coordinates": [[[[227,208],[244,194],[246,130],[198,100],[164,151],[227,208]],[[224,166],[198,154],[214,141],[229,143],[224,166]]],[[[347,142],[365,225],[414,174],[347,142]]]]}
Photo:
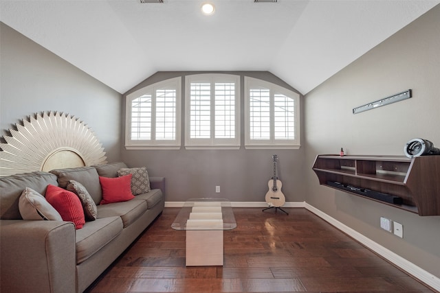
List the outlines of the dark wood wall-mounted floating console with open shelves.
{"type": "Polygon", "coordinates": [[[316,156],[319,183],[418,213],[440,215],[440,156],[316,156]]]}

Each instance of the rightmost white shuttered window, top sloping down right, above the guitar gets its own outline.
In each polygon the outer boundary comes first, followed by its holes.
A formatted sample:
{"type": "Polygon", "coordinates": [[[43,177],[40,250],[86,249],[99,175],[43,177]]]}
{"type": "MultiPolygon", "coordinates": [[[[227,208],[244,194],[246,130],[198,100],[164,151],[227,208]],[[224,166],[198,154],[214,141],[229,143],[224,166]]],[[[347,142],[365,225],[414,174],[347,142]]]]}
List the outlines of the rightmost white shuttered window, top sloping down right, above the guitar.
{"type": "Polygon", "coordinates": [[[245,147],[299,148],[299,102],[294,91],[245,77],[245,147]]]}

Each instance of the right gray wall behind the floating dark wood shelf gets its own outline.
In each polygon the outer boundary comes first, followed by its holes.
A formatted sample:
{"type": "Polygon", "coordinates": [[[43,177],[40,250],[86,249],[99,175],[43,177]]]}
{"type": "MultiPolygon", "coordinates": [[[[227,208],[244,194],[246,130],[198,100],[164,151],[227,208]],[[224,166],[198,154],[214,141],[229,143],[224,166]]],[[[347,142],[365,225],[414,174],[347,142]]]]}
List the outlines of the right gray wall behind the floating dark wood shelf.
{"type": "Polygon", "coordinates": [[[437,277],[440,216],[420,217],[322,187],[310,167],[316,154],[337,154],[341,147],[348,154],[404,155],[405,143],[422,137],[440,148],[439,52],[437,5],[305,96],[306,201],[437,277]],[[407,89],[411,99],[351,112],[407,89]],[[382,230],[381,216],[403,224],[404,238],[382,230]]]}

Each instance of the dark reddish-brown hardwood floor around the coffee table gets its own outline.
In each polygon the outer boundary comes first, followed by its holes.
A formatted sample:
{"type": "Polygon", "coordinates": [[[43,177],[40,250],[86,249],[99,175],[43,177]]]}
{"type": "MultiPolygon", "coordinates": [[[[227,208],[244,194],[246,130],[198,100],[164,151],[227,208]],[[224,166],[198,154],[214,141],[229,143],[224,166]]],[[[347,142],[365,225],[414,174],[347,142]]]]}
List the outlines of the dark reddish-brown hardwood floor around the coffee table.
{"type": "Polygon", "coordinates": [[[89,292],[433,292],[306,209],[234,208],[224,266],[186,267],[185,231],[162,215],[89,292]]]}

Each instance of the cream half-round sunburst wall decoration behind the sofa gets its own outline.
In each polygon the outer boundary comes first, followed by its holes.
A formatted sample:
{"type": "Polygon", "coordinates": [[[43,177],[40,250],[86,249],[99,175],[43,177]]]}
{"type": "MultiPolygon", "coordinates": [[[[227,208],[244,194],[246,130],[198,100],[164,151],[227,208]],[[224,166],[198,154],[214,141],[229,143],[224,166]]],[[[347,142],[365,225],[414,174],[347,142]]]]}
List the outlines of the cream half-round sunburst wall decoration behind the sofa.
{"type": "Polygon", "coordinates": [[[74,116],[37,113],[16,126],[0,143],[0,176],[107,163],[94,132],[74,116]]]}

